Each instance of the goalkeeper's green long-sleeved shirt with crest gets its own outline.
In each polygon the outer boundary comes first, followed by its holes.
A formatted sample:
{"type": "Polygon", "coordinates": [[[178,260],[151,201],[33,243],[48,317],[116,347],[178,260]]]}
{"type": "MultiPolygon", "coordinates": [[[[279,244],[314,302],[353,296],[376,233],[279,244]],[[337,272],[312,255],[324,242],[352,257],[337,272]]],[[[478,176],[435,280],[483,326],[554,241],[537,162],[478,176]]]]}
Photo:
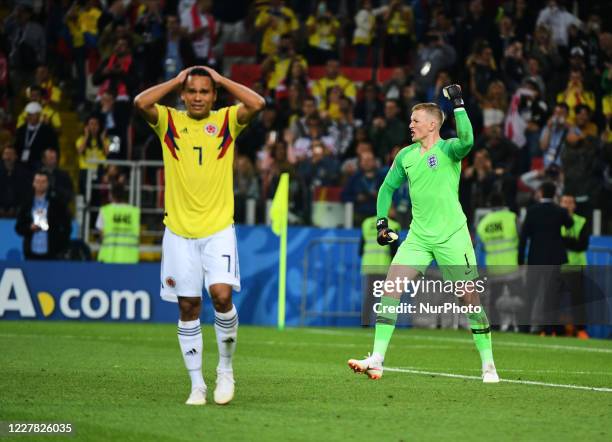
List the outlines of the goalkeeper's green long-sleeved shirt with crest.
{"type": "Polygon", "coordinates": [[[458,138],[438,140],[421,154],[421,143],[403,148],[378,191],[376,212],[386,218],[393,192],[404,181],[412,201],[410,234],[430,244],[445,242],[466,223],[459,203],[461,160],[474,144],[472,124],[465,109],[455,109],[458,138]]]}

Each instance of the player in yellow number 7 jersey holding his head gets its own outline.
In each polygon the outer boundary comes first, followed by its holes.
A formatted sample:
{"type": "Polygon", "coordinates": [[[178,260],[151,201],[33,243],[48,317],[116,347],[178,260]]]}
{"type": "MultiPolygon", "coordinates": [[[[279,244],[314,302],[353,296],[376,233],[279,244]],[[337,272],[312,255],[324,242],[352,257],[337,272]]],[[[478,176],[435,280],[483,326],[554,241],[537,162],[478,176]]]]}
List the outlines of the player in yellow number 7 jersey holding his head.
{"type": "Polygon", "coordinates": [[[163,149],[166,231],[161,297],[179,305],[178,340],[191,377],[191,394],[186,403],[206,403],[200,330],[205,286],[215,308],[219,347],[214,399],[217,404],[227,404],[234,397],[232,356],[238,331],[232,288],[240,291],[233,224],[234,142],[265,101],[213,69],[196,66],[140,93],[134,104],[159,137],[163,149]],[[240,103],[213,110],[217,87],[225,88],[240,103]],[[158,104],[177,89],[186,111],[158,104]]]}

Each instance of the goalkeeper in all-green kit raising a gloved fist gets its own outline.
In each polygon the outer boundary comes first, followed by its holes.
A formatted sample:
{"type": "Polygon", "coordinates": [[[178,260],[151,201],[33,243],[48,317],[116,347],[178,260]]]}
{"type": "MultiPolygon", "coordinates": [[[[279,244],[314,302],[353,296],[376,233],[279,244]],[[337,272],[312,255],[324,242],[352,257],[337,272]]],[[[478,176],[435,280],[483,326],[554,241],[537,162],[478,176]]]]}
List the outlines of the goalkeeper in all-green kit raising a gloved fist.
{"type": "MultiPolygon", "coordinates": [[[[425,273],[434,259],[447,281],[472,281],[478,277],[474,247],[458,196],[461,160],[472,148],[474,134],[461,97],[461,87],[456,84],[445,87],[444,96],[453,102],[458,138],[440,138],[444,114],[437,104],[414,106],[410,118],[414,143],[397,154],[378,192],[376,226],[380,245],[398,239],[397,233],[388,227],[387,214],[393,192],[404,181],[408,181],[412,200],[410,231],[391,263],[386,282],[398,278],[416,279],[425,273]]],[[[380,313],[376,317],[374,349],[365,359],[348,361],[355,372],[364,373],[370,379],[382,376],[385,353],[397,321],[394,307],[399,305],[401,295],[399,287],[394,290],[385,287],[380,299],[380,313]]],[[[480,306],[478,293],[474,290],[466,290],[460,300],[464,305],[480,306]]],[[[482,308],[472,308],[471,311],[478,311],[468,313],[467,317],[482,361],[483,382],[499,382],[486,313],[482,308]]]]}

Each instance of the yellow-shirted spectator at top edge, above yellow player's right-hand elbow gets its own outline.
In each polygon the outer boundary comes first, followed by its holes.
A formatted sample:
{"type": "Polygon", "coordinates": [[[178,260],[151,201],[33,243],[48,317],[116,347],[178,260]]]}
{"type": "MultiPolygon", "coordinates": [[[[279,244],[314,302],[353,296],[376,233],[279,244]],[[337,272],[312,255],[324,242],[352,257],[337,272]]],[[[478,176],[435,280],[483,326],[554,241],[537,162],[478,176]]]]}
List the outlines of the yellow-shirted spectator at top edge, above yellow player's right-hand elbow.
{"type": "Polygon", "coordinates": [[[283,0],[270,0],[269,5],[264,6],[257,15],[255,28],[263,33],[259,52],[266,57],[274,55],[282,35],[296,33],[300,24],[283,0]]]}

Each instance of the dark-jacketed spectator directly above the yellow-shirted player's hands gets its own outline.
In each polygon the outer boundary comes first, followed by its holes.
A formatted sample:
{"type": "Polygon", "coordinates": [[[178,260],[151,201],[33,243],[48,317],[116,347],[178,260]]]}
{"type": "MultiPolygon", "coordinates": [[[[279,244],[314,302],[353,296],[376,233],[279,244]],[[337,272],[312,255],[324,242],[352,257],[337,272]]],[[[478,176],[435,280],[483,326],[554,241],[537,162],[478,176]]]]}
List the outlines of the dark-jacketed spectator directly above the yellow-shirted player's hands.
{"type": "Polygon", "coordinates": [[[176,77],[186,66],[195,64],[193,45],[183,34],[179,18],[174,14],[166,16],[166,40],[163,46],[164,80],[176,77]]]}

